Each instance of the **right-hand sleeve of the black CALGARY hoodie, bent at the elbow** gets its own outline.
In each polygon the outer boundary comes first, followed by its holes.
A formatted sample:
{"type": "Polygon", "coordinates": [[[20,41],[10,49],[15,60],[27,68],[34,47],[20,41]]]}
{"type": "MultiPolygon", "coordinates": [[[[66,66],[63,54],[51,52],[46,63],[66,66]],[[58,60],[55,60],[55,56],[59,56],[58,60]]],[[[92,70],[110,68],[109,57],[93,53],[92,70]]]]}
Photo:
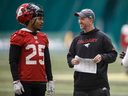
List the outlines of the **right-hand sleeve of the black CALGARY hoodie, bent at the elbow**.
{"type": "Polygon", "coordinates": [[[117,52],[109,37],[104,38],[103,48],[105,52],[101,54],[102,61],[106,63],[113,63],[116,60],[117,52]]]}

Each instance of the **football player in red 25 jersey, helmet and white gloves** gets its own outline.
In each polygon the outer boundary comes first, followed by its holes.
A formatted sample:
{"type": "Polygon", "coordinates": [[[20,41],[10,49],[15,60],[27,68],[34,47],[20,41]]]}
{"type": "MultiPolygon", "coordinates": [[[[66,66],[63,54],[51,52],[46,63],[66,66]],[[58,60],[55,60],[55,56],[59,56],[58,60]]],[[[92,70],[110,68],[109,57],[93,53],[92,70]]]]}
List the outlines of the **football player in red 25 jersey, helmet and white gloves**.
{"type": "Polygon", "coordinates": [[[44,11],[34,3],[22,4],[16,19],[25,25],[10,37],[9,63],[15,96],[45,96],[54,93],[49,42],[43,27],[44,11]]]}

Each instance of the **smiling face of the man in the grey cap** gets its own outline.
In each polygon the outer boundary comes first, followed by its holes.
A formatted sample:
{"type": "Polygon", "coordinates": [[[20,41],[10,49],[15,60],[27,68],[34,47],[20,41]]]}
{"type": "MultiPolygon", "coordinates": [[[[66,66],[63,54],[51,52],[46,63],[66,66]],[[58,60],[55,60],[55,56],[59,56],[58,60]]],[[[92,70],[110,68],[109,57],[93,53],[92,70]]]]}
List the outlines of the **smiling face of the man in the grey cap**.
{"type": "Polygon", "coordinates": [[[80,25],[81,29],[86,29],[87,27],[90,26],[90,24],[92,24],[91,19],[87,18],[83,18],[79,16],[79,20],[78,23],[80,25]]]}

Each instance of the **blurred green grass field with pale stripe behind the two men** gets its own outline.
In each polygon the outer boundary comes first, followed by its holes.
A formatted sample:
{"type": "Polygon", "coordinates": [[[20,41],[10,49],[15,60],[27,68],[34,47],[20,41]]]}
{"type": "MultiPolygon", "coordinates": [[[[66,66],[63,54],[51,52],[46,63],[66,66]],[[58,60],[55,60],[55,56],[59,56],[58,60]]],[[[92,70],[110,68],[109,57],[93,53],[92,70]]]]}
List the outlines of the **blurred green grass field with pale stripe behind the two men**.
{"type": "MultiPolygon", "coordinates": [[[[68,67],[66,54],[51,54],[51,62],[56,80],[53,96],[72,96],[73,69],[68,67]]],[[[116,62],[110,64],[108,68],[111,96],[128,96],[128,76],[120,62],[118,56],[116,62]]],[[[8,55],[0,55],[0,96],[14,96],[8,55]]]]}

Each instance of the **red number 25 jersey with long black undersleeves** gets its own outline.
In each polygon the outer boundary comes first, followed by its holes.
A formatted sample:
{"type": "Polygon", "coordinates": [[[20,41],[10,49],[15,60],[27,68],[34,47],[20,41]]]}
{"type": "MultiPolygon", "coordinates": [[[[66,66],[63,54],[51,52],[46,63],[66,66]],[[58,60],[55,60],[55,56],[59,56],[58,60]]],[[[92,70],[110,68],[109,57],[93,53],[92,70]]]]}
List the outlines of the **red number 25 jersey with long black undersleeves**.
{"type": "Polygon", "coordinates": [[[10,38],[9,63],[13,80],[46,83],[53,80],[46,34],[26,28],[10,38]]]}

